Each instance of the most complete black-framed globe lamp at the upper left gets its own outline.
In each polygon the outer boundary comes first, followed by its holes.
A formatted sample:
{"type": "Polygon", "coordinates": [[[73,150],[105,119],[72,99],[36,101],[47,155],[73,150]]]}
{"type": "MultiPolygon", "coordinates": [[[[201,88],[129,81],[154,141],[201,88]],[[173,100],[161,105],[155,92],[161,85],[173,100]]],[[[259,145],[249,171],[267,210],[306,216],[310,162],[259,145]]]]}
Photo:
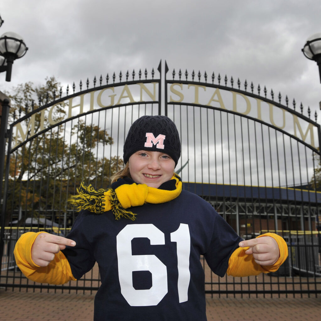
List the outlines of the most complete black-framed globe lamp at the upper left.
{"type": "Polygon", "coordinates": [[[0,55],[6,60],[6,65],[0,65],[0,72],[6,71],[6,81],[11,80],[12,65],[15,59],[23,57],[28,48],[21,36],[14,32],[5,32],[0,36],[0,55]]]}

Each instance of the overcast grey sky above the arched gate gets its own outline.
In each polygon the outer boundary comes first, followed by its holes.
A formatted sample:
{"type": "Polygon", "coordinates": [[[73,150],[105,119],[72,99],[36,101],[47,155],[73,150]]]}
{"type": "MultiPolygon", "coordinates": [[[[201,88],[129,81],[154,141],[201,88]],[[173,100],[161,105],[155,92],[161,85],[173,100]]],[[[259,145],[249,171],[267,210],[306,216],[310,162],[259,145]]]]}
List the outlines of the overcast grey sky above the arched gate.
{"type": "Polygon", "coordinates": [[[0,34],[20,34],[29,50],[0,90],[156,70],[166,59],[170,70],[226,74],[319,112],[318,68],[301,48],[321,32],[320,12],[317,0],[2,1],[0,34]]]}

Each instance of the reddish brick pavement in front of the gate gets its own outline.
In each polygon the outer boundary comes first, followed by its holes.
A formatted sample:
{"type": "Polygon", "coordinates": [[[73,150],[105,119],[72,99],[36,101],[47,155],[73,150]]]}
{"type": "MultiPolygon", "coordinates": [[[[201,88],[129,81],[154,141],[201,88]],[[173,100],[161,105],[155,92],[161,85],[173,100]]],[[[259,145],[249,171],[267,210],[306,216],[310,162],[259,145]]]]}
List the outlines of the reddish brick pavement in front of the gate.
{"type": "MultiPolygon", "coordinates": [[[[0,290],[1,321],[87,321],[93,319],[94,294],[0,290]]],[[[321,297],[211,298],[208,321],[306,321],[321,319],[321,297]]],[[[139,320],[137,320],[139,321],[139,320]]],[[[151,320],[152,321],[152,320],[151,320]]],[[[175,320],[176,321],[176,320],[175,320]]],[[[180,321],[180,320],[177,320],[180,321]]],[[[183,320],[182,320],[183,321],[183,320]]],[[[195,320],[197,321],[197,320],[195,320]]]]}

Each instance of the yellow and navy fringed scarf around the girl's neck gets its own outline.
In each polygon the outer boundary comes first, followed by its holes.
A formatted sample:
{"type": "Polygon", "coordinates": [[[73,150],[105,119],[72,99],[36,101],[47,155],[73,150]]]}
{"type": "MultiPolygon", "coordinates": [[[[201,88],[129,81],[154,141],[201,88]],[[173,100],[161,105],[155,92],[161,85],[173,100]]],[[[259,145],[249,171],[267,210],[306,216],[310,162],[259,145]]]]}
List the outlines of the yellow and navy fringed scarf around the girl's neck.
{"type": "Polygon", "coordinates": [[[145,203],[160,204],[173,200],[182,191],[182,181],[176,174],[163,183],[159,188],[149,187],[146,184],[136,184],[131,178],[119,178],[111,188],[96,190],[92,185],[83,183],[77,188],[78,195],[71,196],[69,202],[80,210],[102,214],[112,211],[115,219],[128,218],[135,220],[133,212],[127,209],[132,206],[141,206],[145,203]]]}

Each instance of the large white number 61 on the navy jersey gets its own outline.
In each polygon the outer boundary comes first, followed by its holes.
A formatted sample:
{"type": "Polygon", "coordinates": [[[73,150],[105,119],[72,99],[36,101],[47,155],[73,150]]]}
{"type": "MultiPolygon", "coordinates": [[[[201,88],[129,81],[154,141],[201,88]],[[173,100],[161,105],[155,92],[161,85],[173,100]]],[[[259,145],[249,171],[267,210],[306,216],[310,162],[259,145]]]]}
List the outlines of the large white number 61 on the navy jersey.
{"type": "MultiPolygon", "coordinates": [[[[168,292],[166,266],[155,255],[132,255],[132,239],[148,238],[151,245],[164,245],[164,233],[153,224],[126,225],[117,235],[118,275],[121,292],[131,306],[157,305],[168,292]],[[136,290],[133,287],[133,271],[150,271],[152,287],[136,290]]],[[[170,240],[177,243],[179,302],[188,300],[190,281],[190,235],[187,224],[170,233],[170,240]]]]}

